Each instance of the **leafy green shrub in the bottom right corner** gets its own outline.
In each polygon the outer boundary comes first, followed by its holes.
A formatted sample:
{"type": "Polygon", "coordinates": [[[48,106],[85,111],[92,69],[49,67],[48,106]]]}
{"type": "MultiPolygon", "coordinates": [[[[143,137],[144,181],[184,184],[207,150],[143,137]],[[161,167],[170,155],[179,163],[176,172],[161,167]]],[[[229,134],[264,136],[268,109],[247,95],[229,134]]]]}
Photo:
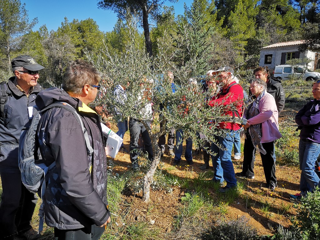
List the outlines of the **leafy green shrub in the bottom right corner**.
{"type": "Polygon", "coordinates": [[[291,223],[299,239],[320,239],[320,191],[317,187],[313,193],[308,193],[296,204],[298,213],[292,217],[291,223]]]}

